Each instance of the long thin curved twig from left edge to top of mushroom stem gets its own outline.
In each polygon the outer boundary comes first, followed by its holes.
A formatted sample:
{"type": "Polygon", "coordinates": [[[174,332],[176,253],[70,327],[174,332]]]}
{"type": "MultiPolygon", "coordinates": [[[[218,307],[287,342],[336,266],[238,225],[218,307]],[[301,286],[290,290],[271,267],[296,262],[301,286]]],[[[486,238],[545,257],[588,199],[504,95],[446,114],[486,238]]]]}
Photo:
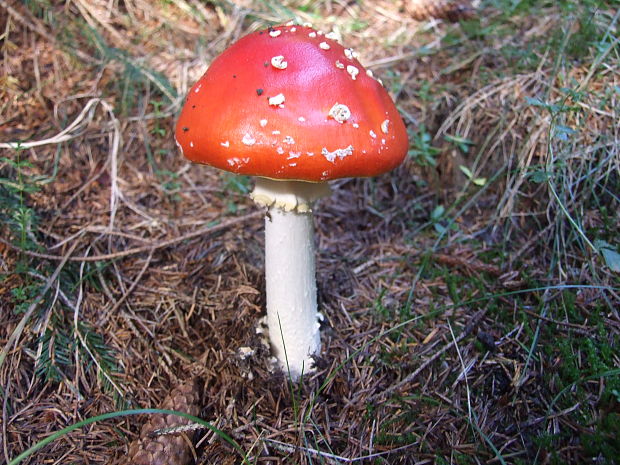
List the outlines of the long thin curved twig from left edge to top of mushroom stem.
{"type": "MultiPolygon", "coordinates": [[[[183,236],[175,237],[173,239],[168,239],[166,241],[156,242],[155,244],[148,244],[148,245],[144,245],[141,247],[135,247],[133,249],[123,250],[121,252],[113,252],[113,253],[102,254],[102,255],[93,255],[91,257],[68,257],[67,260],[71,262],[99,262],[102,260],[114,260],[116,258],[127,257],[129,255],[136,255],[142,252],[148,252],[151,249],[156,250],[156,249],[162,249],[165,247],[170,247],[171,245],[175,245],[175,244],[178,244],[179,242],[193,239],[194,237],[198,237],[198,236],[202,236],[206,234],[214,234],[224,229],[228,229],[232,226],[236,226],[240,223],[245,223],[246,221],[253,220],[258,217],[262,217],[263,215],[264,215],[264,212],[262,210],[259,210],[253,213],[248,213],[247,215],[241,216],[239,218],[233,218],[231,220],[225,221],[215,226],[207,226],[207,227],[198,229],[196,231],[185,234],[183,236]]],[[[60,255],[51,255],[51,254],[45,254],[45,253],[39,253],[39,252],[32,252],[30,250],[24,250],[2,238],[0,238],[0,244],[4,244],[13,250],[19,250],[21,253],[28,255],[30,257],[44,258],[46,260],[65,260],[65,257],[62,257],[60,255]]]]}

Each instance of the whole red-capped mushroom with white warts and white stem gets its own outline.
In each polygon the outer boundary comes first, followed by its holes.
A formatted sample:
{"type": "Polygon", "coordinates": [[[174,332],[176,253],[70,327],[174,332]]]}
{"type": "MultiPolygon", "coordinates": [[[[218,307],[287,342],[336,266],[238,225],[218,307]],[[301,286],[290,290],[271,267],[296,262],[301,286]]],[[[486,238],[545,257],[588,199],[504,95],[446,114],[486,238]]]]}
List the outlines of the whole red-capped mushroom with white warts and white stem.
{"type": "Polygon", "coordinates": [[[176,126],[186,158],[257,176],[267,326],[293,378],[320,351],[312,203],[331,179],[375,176],[407,153],[405,125],[352,49],[309,26],[249,34],[190,90],[176,126]]]}

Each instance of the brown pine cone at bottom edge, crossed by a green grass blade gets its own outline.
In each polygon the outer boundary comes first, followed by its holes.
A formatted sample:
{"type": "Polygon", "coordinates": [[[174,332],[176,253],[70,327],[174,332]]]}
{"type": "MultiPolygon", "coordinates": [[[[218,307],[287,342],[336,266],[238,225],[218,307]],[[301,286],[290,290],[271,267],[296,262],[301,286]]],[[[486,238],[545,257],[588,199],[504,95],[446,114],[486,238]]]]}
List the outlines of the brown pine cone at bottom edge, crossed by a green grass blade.
{"type": "MultiPolygon", "coordinates": [[[[181,384],[164,399],[162,409],[198,415],[200,412],[200,389],[196,380],[181,384]]],[[[184,433],[168,433],[158,436],[153,431],[188,425],[189,419],[176,415],[150,415],[142,426],[140,439],[129,446],[125,465],[186,465],[192,458],[191,444],[184,433]]]]}

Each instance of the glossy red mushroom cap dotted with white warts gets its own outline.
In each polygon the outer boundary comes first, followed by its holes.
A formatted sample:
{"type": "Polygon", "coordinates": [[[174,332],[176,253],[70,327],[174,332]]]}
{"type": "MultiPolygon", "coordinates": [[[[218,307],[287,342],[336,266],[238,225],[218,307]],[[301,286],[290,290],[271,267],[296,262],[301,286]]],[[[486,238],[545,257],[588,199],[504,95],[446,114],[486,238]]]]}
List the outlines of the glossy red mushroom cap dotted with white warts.
{"type": "Polygon", "coordinates": [[[326,181],[374,176],[407,153],[390,96],[328,34],[249,34],[192,87],[176,127],[185,157],[238,174],[326,181]]]}

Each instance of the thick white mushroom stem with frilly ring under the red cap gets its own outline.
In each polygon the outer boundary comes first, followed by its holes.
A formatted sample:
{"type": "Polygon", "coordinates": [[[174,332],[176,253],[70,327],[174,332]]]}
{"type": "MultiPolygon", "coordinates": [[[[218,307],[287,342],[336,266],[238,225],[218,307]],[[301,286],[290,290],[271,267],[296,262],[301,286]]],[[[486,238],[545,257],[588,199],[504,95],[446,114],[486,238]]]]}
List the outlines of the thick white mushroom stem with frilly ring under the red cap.
{"type": "Polygon", "coordinates": [[[269,338],[293,379],[313,370],[321,348],[316,300],[311,203],[329,193],[324,183],[258,178],[252,198],[265,217],[265,279],[269,338]]]}

